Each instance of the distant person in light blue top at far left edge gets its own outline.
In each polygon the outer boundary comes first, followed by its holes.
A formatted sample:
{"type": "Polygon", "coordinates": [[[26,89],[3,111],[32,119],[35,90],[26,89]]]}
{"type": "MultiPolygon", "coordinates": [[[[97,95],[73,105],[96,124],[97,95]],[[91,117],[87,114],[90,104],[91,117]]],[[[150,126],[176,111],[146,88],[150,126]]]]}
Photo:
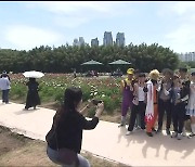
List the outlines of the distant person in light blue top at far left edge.
{"type": "Polygon", "coordinates": [[[9,104],[9,91],[11,82],[6,74],[2,74],[0,78],[0,89],[2,90],[2,103],[9,104]]]}

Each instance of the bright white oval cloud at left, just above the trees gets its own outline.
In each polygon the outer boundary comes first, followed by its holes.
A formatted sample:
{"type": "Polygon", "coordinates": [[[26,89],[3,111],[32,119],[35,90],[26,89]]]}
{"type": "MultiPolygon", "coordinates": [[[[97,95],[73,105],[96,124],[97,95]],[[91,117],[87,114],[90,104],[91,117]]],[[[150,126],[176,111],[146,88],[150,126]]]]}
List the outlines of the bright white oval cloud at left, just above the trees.
{"type": "Polygon", "coordinates": [[[51,46],[62,38],[60,34],[52,30],[16,25],[9,27],[5,31],[5,40],[15,46],[16,49],[29,50],[40,46],[51,46]]]}

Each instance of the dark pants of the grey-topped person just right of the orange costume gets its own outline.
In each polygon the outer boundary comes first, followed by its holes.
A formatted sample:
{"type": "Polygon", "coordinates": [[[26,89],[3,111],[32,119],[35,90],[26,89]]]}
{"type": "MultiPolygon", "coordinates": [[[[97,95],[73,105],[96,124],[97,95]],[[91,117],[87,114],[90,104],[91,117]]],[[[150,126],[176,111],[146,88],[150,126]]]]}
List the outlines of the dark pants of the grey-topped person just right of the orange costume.
{"type": "Polygon", "coordinates": [[[161,127],[162,127],[165,112],[167,116],[166,128],[169,129],[171,125],[171,103],[169,100],[162,101],[159,99],[159,102],[158,102],[158,129],[159,130],[161,130],[161,127]]]}

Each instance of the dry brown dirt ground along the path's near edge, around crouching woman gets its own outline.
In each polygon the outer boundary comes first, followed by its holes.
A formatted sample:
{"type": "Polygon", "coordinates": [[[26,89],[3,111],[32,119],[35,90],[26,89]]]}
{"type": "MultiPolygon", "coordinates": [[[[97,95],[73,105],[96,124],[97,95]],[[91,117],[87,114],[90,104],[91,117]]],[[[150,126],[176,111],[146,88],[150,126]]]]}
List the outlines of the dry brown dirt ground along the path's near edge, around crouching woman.
{"type": "MultiPolygon", "coordinates": [[[[46,154],[47,143],[11,132],[0,126],[0,166],[57,166],[46,154]]],[[[82,154],[94,167],[120,167],[122,165],[82,154]]]]}

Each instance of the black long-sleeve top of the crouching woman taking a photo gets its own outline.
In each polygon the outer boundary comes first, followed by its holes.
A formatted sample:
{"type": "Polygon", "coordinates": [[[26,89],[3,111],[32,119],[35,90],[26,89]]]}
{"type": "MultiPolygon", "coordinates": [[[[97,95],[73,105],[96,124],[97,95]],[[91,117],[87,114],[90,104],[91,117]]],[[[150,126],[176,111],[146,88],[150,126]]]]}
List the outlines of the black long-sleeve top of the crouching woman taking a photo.
{"type": "Polygon", "coordinates": [[[53,150],[66,147],[80,153],[82,130],[94,129],[98,123],[98,117],[87,120],[79,112],[72,111],[62,115],[56,128],[54,128],[54,124],[52,125],[46,140],[48,145],[53,150]]]}

